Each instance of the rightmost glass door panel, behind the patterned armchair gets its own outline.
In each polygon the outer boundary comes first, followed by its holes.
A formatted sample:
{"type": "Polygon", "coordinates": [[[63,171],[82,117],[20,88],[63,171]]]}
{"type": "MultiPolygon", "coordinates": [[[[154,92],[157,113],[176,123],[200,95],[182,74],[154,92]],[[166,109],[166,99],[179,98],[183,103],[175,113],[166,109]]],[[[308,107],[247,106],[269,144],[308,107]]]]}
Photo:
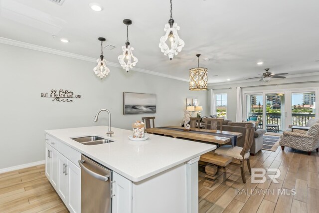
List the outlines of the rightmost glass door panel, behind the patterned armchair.
{"type": "Polygon", "coordinates": [[[291,93],[291,122],[294,126],[306,126],[316,116],[316,92],[291,93]]]}

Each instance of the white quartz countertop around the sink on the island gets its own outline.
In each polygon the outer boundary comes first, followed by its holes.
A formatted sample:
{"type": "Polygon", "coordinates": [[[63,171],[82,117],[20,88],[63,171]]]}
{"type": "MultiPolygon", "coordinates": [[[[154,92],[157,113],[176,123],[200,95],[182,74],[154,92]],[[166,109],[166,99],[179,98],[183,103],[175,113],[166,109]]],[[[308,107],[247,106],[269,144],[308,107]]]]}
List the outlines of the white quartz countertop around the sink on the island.
{"type": "Polygon", "coordinates": [[[107,126],[92,126],[46,130],[45,133],[133,182],[142,181],[216,149],[212,144],[152,134],[146,134],[149,136],[146,141],[131,141],[128,136],[133,131],[119,128],[112,128],[113,136],[107,137],[107,130],[107,126]],[[71,139],[89,135],[114,142],[89,146],[71,139]]]}

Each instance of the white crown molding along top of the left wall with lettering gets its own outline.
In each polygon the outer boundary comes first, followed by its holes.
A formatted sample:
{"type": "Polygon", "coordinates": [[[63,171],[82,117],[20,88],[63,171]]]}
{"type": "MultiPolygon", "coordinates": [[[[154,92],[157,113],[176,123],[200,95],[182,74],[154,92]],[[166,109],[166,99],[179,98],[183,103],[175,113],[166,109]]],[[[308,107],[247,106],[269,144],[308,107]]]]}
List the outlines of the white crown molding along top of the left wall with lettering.
{"type": "MultiPolygon", "coordinates": [[[[84,56],[84,55],[78,55],[75,53],[65,52],[65,51],[52,49],[52,48],[48,48],[48,47],[44,47],[44,46],[39,46],[39,45],[35,45],[35,44],[25,43],[22,41],[12,40],[12,39],[8,39],[8,38],[0,37],[0,43],[96,63],[96,58],[92,58],[92,57],[88,57],[88,56],[84,56]]],[[[119,63],[114,63],[114,62],[108,61],[107,64],[109,66],[112,66],[112,67],[122,68],[119,63]]],[[[172,75],[167,75],[167,74],[163,74],[160,72],[155,72],[155,71],[151,71],[151,70],[147,70],[147,69],[141,69],[141,68],[134,67],[131,70],[136,71],[136,72],[150,74],[150,75],[156,75],[156,76],[160,76],[160,77],[164,77],[164,78],[171,78],[174,80],[188,82],[188,79],[179,78],[179,77],[175,77],[172,75]]]]}

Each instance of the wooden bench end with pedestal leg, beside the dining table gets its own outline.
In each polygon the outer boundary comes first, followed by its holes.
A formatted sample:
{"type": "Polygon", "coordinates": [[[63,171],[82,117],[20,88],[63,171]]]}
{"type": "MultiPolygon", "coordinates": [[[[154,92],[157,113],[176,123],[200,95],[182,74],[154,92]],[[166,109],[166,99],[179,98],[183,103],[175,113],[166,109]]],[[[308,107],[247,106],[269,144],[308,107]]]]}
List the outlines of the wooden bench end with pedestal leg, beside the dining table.
{"type": "Polygon", "coordinates": [[[233,161],[233,157],[226,155],[217,155],[214,152],[208,152],[200,156],[200,161],[205,162],[205,182],[204,186],[212,187],[216,180],[218,166],[225,167],[233,161]]]}

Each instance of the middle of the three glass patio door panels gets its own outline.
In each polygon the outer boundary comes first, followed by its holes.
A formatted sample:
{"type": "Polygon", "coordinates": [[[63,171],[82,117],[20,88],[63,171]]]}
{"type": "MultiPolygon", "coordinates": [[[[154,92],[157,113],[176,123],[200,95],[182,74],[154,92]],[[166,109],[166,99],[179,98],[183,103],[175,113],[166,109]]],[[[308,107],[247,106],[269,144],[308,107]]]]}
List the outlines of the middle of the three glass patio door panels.
{"type": "MultiPolygon", "coordinates": [[[[267,132],[285,130],[285,93],[266,93],[265,119],[267,132]]],[[[265,128],[264,127],[264,128],[265,128]]]]}

